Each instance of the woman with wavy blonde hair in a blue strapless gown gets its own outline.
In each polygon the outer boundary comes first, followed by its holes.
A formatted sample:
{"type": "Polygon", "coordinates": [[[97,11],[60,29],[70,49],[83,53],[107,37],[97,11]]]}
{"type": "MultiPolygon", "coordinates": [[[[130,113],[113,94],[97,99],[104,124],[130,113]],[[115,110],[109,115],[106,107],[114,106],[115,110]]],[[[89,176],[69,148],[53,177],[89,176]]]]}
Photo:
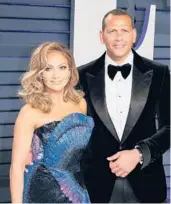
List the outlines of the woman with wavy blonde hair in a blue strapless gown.
{"type": "Polygon", "coordinates": [[[26,105],[14,128],[10,187],[12,203],[89,203],[80,159],[93,120],[70,52],[57,42],[32,54],[19,95],[26,105]],[[24,173],[30,148],[33,165],[24,173]]]}

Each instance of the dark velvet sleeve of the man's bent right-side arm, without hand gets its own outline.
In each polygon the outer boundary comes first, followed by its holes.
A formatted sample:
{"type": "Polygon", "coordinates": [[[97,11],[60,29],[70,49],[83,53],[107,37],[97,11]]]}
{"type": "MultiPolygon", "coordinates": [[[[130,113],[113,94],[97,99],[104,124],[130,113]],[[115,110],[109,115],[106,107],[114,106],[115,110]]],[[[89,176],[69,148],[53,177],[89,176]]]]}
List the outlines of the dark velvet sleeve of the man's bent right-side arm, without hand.
{"type": "Polygon", "coordinates": [[[159,129],[156,134],[137,144],[143,155],[142,168],[161,157],[170,147],[170,73],[168,67],[165,67],[159,91],[160,98],[157,104],[159,129]]]}

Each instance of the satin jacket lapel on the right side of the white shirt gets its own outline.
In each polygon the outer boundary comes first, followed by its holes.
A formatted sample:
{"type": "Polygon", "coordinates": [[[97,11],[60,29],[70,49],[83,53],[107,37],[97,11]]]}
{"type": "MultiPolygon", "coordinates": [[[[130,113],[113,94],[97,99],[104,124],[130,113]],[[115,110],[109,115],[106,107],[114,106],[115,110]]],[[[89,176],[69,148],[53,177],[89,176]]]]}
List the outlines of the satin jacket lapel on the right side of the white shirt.
{"type": "Polygon", "coordinates": [[[127,122],[123,132],[121,144],[129,136],[133,127],[137,123],[144,106],[147,102],[150,85],[153,76],[153,70],[146,70],[143,60],[134,52],[134,68],[132,81],[132,95],[130,102],[130,109],[127,117],[127,122]]]}

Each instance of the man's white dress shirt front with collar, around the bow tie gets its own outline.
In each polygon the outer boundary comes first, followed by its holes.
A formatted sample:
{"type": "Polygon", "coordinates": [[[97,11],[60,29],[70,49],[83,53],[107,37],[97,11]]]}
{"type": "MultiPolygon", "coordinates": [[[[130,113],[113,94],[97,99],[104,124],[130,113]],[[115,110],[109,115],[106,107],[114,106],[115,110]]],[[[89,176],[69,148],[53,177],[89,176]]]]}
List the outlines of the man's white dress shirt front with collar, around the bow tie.
{"type": "Polygon", "coordinates": [[[123,64],[131,64],[131,72],[129,76],[124,79],[120,71],[118,71],[113,80],[108,76],[108,65],[116,64],[107,54],[105,56],[105,96],[106,105],[109,116],[114,124],[119,139],[121,140],[131,101],[132,91],[132,70],[133,70],[133,53],[130,52],[123,64]]]}

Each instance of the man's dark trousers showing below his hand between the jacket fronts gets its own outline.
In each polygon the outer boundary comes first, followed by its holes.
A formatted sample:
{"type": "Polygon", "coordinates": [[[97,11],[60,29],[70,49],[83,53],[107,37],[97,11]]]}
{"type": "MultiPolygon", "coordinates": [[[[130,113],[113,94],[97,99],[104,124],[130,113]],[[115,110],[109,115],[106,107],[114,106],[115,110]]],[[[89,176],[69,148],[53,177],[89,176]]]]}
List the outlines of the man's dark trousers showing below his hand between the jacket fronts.
{"type": "Polygon", "coordinates": [[[136,198],[128,180],[117,178],[110,203],[140,203],[140,201],[136,198]]]}

